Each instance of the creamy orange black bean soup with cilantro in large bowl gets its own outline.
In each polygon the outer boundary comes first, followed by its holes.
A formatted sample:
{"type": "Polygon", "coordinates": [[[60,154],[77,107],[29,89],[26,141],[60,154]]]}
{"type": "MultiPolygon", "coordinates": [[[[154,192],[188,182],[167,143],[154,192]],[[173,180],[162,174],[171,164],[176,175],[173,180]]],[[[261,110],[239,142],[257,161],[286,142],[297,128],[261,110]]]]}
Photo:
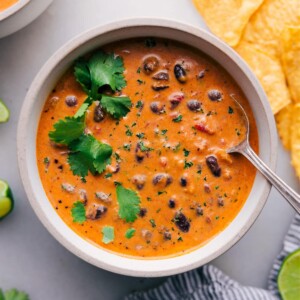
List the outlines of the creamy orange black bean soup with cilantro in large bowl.
{"type": "Polygon", "coordinates": [[[224,230],[255,169],[226,149],[245,135],[220,65],[169,40],[110,44],[79,58],[46,100],[37,132],[44,190],[82,238],[121,255],[181,255],[224,230]]]}

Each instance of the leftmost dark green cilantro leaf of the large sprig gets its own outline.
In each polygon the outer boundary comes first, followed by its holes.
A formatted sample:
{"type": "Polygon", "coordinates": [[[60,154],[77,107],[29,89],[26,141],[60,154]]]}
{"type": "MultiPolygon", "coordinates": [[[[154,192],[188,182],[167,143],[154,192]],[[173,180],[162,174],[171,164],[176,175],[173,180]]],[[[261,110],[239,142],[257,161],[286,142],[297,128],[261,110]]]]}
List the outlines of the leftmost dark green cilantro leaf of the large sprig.
{"type": "Polygon", "coordinates": [[[54,131],[49,132],[49,137],[55,143],[68,145],[82,135],[84,128],[84,117],[66,117],[54,124],[54,131]]]}

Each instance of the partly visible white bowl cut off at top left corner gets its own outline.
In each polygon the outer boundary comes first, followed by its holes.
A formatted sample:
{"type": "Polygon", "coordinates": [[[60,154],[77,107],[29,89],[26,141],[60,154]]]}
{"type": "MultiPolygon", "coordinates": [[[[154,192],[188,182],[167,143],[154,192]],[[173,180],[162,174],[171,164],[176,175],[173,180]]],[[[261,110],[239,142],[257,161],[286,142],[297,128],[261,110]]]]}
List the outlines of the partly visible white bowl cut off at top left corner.
{"type": "MultiPolygon", "coordinates": [[[[1,0],[0,0],[1,1],[1,0]]],[[[12,34],[35,20],[53,0],[19,0],[0,13],[0,38],[12,34]]]]}

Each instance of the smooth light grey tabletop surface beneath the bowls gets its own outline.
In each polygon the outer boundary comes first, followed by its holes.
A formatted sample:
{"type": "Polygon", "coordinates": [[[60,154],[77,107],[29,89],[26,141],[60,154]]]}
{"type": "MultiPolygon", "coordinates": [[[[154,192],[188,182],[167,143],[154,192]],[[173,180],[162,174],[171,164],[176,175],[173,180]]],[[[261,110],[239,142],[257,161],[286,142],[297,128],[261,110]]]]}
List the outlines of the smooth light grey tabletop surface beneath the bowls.
{"type": "MultiPolygon", "coordinates": [[[[10,183],[16,199],[14,213],[0,224],[0,287],[4,289],[24,289],[33,300],[109,300],[162,280],[115,275],[65,250],[34,215],[21,185],[16,159],[20,107],[47,58],[85,29],[133,16],[173,18],[197,26],[201,23],[189,0],[54,0],[31,25],[0,40],[0,96],[12,112],[9,123],[0,125],[0,178],[10,183]]],[[[278,174],[296,188],[299,183],[289,160],[280,147],[278,174]]],[[[251,230],[214,264],[243,284],[266,287],[272,260],[293,215],[285,200],[273,191],[251,230]]]]}

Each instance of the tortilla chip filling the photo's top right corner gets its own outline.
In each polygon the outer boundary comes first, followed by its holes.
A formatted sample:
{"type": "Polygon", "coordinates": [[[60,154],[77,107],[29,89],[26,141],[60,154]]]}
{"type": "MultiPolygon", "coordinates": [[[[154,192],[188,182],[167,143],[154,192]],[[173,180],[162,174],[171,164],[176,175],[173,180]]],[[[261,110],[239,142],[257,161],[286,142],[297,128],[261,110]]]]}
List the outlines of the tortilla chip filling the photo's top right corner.
{"type": "Polygon", "coordinates": [[[266,0],[251,17],[243,40],[255,44],[269,55],[279,53],[280,36],[285,26],[300,26],[299,0],[266,0]]]}

